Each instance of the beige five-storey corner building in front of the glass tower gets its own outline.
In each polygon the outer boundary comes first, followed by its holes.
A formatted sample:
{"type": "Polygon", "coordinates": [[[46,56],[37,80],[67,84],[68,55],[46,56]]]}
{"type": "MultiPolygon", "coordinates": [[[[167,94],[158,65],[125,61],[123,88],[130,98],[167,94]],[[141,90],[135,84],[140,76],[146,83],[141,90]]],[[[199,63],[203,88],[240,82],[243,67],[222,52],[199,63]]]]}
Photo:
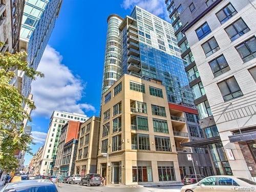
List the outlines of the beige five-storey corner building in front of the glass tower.
{"type": "Polygon", "coordinates": [[[109,151],[109,183],[180,182],[170,119],[161,81],[123,75],[102,95],[97,173],[109,151]]]}

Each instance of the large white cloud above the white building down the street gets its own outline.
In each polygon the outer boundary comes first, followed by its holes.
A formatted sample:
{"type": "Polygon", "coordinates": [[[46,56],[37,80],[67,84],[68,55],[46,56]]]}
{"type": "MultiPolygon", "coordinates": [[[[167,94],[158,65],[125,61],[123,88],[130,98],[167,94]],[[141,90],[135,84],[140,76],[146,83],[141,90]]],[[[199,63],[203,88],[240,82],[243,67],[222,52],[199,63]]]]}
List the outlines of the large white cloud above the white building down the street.
{"type": "Polygon", "coordinates": [[[31,93],[36,105],[33,116],[50,117],[53,110],[82,114],[83,110],[95,111],[91,104],[78,103],[86,83],[74,76],[61,60],[62,56],[55,49],[46,47],[37,69],[45,78],[32,82],[31,93]]]}

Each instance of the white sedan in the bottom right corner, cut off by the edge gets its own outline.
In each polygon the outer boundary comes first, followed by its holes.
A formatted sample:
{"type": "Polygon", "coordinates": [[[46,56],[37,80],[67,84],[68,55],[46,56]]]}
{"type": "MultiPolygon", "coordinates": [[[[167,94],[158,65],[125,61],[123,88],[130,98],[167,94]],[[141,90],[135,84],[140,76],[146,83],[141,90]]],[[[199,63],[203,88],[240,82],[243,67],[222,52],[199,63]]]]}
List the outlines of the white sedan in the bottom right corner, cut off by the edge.
{"type": "Polygon", "coordinates": [[[242,177],[210,176],[198,183],[186,185],[181,192],[227,192],[249,191],[256,192],[256,183],[242,177]]]}

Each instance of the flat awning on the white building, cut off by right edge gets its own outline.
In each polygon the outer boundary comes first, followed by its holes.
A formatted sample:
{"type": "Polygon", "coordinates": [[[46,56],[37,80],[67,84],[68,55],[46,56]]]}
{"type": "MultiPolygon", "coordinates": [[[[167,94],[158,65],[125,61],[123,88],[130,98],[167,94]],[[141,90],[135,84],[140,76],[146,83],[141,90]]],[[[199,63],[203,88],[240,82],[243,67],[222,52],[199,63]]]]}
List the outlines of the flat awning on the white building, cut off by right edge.
{"type": "Polygon", "coordinates": [[[246,143],[255,144],[256,143],[256,130],[251,131],[251,132],[231,135],[231,136],[228,136],[228,138],[231,143],[246,142],[246,143]]]}

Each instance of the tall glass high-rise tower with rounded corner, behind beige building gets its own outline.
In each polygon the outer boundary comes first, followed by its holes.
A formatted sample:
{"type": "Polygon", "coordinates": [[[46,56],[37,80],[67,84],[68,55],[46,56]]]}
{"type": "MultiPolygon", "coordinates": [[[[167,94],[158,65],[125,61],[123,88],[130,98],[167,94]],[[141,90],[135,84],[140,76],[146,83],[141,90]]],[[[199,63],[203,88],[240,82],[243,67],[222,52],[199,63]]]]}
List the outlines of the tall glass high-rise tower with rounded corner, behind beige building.
{"type": "Polygon", "coordinates": [[[169,102],[194,105],[172,25],[135,7],[108,18],[102,93],[123,74],[161,80],[169,102]]]}

